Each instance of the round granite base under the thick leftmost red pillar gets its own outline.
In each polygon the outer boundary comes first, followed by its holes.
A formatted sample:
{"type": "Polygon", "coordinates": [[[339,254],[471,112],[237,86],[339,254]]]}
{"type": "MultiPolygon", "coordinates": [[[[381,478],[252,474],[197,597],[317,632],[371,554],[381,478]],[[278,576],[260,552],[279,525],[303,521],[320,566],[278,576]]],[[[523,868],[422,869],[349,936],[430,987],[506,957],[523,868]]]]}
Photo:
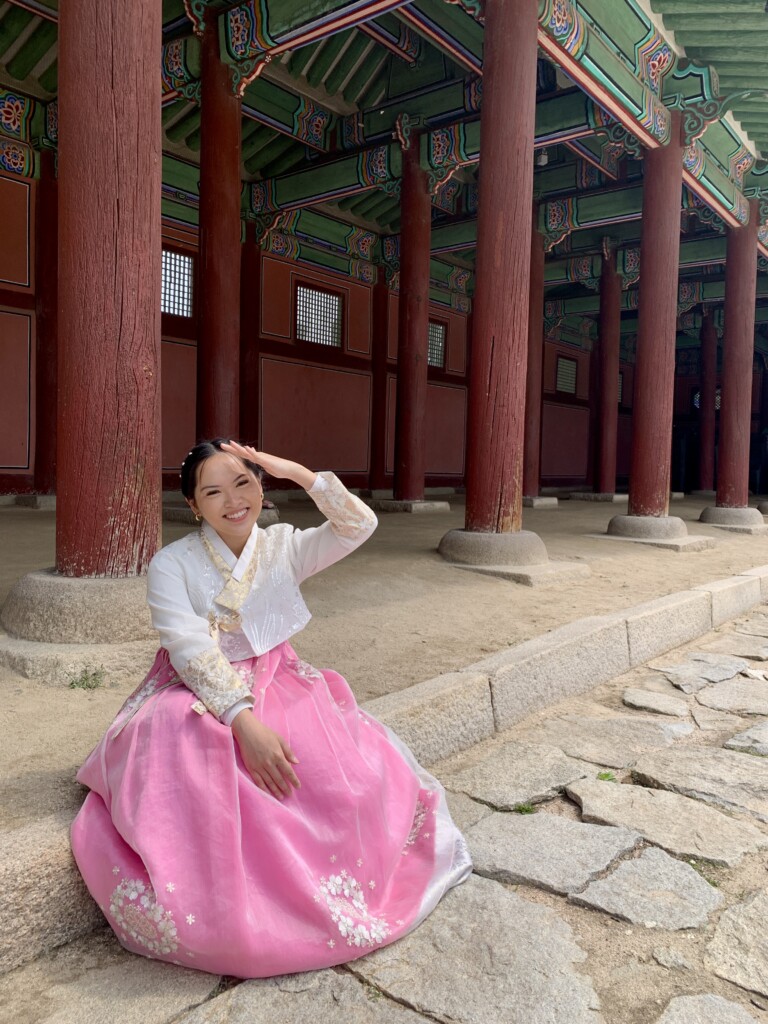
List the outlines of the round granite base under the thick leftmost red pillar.
{"type": "Polygon", "coordinates": [[[0,622],[22,640],[116,644],[156,637],[146,606],[146,579],[77,579],[42,569],[11,589],[0,622]]]}

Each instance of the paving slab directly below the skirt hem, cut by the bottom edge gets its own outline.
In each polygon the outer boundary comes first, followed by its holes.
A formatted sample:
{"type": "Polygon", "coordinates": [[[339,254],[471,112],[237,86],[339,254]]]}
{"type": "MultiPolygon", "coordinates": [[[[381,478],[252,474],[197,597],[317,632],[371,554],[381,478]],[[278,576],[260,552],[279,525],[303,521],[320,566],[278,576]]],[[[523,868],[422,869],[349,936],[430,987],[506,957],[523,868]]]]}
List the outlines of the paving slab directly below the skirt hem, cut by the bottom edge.
{"type": "Polygon", "coordinates": [[[246,981],[175,1024],[426,1024],[346,972],[314,971],[246,981]]]}

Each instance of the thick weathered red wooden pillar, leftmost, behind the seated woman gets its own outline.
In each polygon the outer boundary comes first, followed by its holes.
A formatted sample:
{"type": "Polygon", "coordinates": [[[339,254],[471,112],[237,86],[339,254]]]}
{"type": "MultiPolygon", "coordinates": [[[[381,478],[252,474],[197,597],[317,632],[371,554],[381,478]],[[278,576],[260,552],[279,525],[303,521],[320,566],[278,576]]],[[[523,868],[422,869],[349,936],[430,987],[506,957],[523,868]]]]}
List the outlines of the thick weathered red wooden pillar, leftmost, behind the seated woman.
{"type": "Polygon", "coordinates": [[[142,572],[160,534],[156,0],[68,0],[58,20],[56,566],[142,572]]]}

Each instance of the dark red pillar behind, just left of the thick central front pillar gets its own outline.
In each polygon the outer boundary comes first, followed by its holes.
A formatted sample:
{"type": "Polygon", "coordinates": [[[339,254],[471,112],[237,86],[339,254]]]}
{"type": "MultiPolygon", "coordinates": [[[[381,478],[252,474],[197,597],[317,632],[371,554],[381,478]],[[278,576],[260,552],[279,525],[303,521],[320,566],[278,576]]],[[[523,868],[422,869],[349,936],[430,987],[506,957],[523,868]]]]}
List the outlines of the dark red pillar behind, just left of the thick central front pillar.
{"type": "Polygon", "coordinates": [[[394,499],[423,501],[432,203],[419,138],[402,152],[394,499]]]}

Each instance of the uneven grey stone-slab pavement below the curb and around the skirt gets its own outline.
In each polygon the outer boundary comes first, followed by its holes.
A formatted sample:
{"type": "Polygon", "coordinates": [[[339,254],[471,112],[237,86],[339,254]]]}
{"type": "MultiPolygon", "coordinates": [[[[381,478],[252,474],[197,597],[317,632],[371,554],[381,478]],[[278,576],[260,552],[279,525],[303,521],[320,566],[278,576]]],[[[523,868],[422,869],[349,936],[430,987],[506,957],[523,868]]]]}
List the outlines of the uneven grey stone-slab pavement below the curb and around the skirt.
{"type": "Polygon", "coordinates": [[[394,945],[238,982],[95,931],[0,979],[0,1022],[768,1022],[766,637],[760,605],[433,765],[475,873],[394,945]]]}

